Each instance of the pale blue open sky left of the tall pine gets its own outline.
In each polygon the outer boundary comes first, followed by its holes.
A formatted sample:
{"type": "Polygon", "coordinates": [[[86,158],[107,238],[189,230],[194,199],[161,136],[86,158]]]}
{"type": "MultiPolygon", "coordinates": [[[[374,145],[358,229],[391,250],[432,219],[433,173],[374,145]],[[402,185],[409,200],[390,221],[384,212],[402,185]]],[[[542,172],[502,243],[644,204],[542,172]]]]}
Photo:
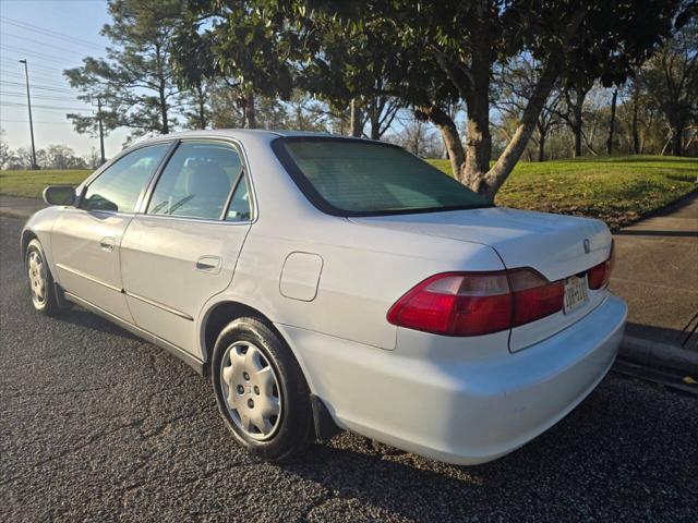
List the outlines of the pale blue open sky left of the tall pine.
{"type": "MultiPolygon", "coordinates": [[[[24,65],[19,63],[26,59],[36,148],[63,144],[79,155],[99,149],[98,138],[77,134],[65,118],[94,108],[75,98],[62,71],[84,57],[104,56],[108,40],[99,31],[107,22],[106,0],[0,0],[0,126],[10,148],[31,147],[24,65]]],[[[117,130],[106,137],[107,158],[121,150],[127,134],[117,130]]]]}

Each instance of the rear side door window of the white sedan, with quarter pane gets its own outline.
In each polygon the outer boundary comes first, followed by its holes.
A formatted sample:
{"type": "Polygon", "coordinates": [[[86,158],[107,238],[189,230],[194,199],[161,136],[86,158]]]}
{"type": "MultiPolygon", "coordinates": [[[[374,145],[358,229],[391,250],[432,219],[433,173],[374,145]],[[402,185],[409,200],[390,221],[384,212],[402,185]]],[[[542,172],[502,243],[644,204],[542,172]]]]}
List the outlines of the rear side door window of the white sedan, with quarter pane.
{"type": "Polygon", "coordinates": [[[147,214],[219,220],[241,173],[233,146],[183,142],[157,181],[147,214]]]}

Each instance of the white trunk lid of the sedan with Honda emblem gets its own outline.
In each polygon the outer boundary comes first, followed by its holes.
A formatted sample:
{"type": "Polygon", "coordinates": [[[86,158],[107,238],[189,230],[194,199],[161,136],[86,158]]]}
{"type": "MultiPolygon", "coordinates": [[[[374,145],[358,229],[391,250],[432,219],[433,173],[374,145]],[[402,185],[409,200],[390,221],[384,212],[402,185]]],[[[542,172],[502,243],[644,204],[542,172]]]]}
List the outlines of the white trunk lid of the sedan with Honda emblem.
{"type": "MultiPolygon", "coordinates": [[[[600,220],[500,207],[351,220],[368,227],[489,245],[507,269],[532,267],[550,281],[583,275],[605,260],[611,250],[611,233],[600,220]]],[[[588,302],[568,314],[561,311],[512,329],[509,349],[525,349],[574,324],[591,312],[606,291],[588,289],[588,302]]]]}

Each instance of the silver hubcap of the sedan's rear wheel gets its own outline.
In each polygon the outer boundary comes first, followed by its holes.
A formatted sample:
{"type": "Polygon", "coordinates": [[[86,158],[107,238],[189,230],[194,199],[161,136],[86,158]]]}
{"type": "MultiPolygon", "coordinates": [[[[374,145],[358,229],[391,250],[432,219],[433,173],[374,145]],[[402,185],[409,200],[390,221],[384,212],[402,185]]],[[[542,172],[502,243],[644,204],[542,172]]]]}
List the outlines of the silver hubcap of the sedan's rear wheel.
{"type": "Polygon", "coordinates": [[[236,426],[264,440],[277,430],[281,397],[276,373],[260,348],[246,341],[230,345],[220,365],[220,386],[236,426]]]}

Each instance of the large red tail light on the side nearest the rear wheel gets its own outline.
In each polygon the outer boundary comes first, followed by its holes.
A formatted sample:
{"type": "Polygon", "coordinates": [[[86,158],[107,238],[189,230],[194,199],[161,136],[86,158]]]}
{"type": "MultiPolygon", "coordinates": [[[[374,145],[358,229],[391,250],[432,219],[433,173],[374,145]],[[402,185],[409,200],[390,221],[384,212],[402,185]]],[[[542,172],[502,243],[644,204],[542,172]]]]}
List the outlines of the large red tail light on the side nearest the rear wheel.
{"type": "Polygon", "coordinates": [[[524,325],[563,307],[562,281],[533,269],[444,272],[419,283],[388,311],[390,324],[446,336],[479,336],[524,325]]]}

